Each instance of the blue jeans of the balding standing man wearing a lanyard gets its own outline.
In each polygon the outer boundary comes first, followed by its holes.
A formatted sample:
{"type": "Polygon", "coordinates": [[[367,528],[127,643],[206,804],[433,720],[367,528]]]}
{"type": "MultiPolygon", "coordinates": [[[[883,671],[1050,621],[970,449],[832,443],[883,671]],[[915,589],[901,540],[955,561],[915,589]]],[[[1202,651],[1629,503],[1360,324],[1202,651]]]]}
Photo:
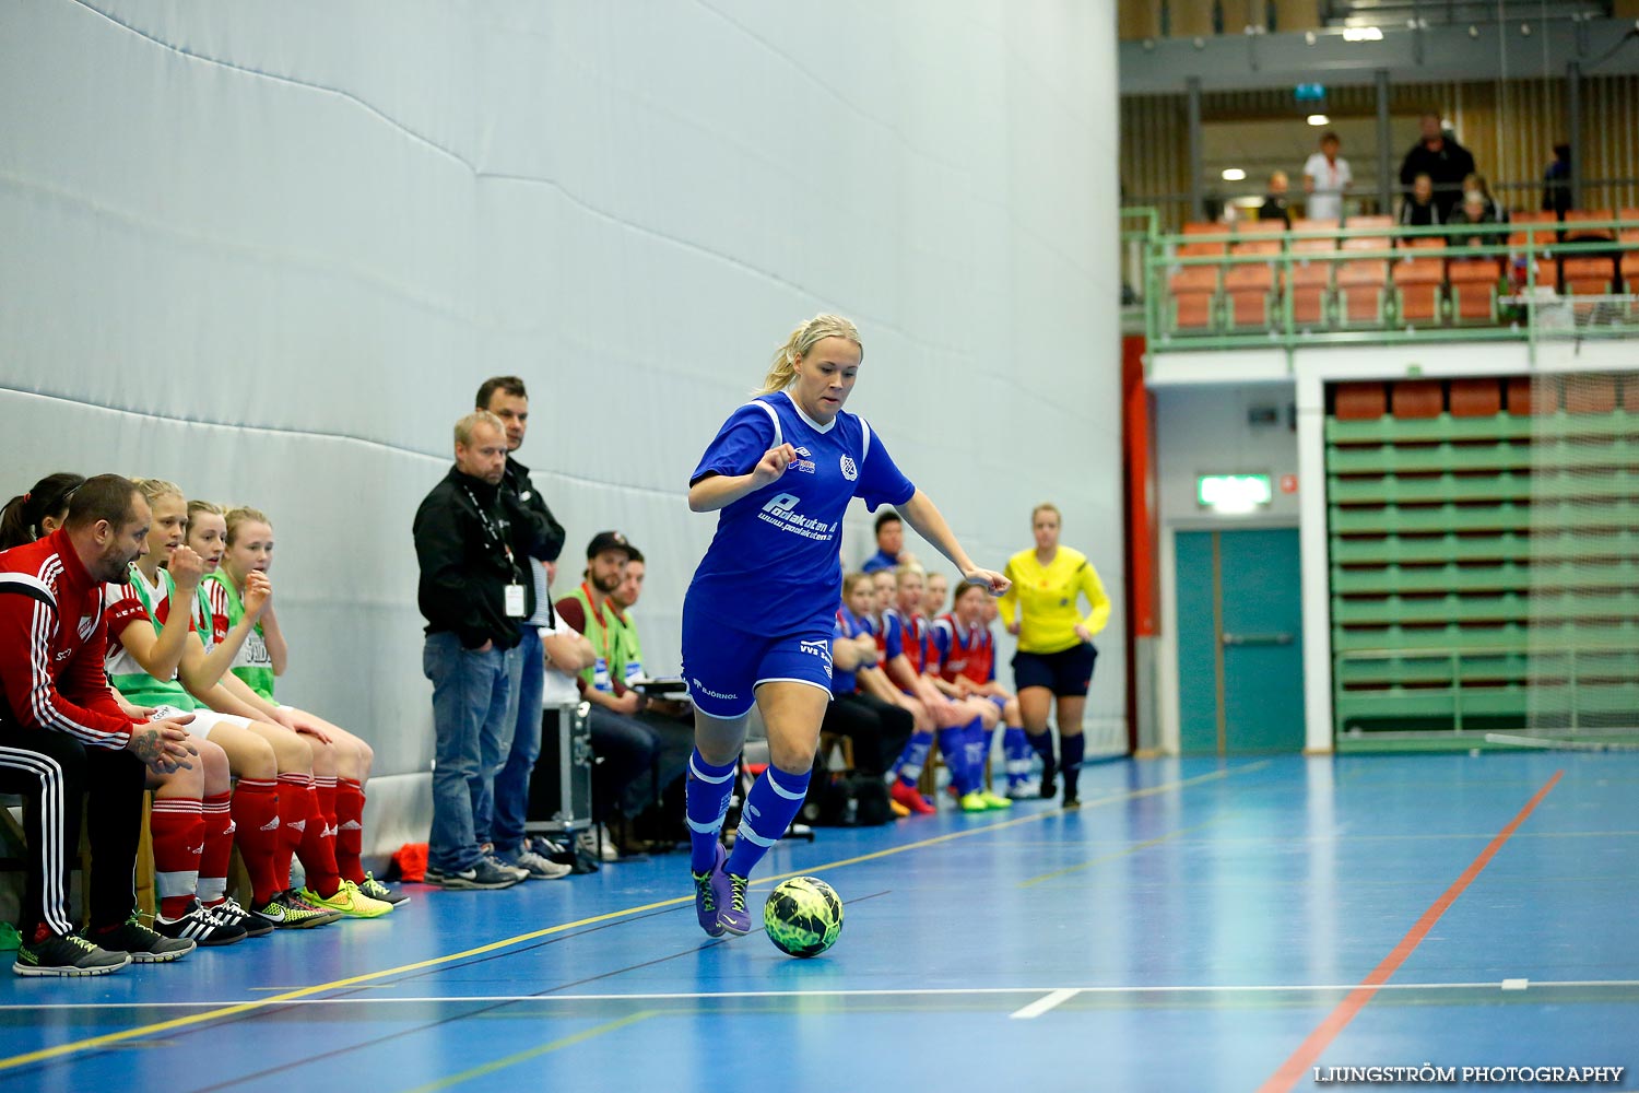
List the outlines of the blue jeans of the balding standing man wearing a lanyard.
{"type": "Polygon", "coordinates": [[[433,680],[433,832],[428,865],[459,872],[477,864],[474,818],[488,808],[485,737],[498,737],[511,693],[508,651],[462,649],[452,633],[426,636],[421,670],[433,680]]]}

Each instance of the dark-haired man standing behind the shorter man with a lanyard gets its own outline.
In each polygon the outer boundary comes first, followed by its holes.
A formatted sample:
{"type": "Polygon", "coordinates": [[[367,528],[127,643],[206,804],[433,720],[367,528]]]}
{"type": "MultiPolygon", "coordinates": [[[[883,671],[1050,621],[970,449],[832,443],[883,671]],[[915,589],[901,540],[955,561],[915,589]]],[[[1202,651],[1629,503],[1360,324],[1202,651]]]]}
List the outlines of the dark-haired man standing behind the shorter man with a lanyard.
{"type": "MultiPolygon", "coordinates": [[[[552,601],[546,588],[546,562],[556,562],[564,547],[564,526],[552,516],[546,498],[529,480],[529,469],[513,459],[523,446],[529,428],[529,392],[516,375],[497,375],[484,380],[475,398],[479,410],[488,410],[506,429],[506,469],[502,475],[502,492],[518,506],[520,519],[529,521],[528,536],[534,549],[521,559],[529,574],[526,601],[529,615],[518,637],[518,665],[511,680],[503,739],[495,739],[497,751],[485,747],[484,764],[495,780],[492,808],[479,813],[479,841],[493,841],[495,857],[516,865],[536,880],[552,880],[569,873],[569,865],[547,860],[524,842],[524,821],[529,816],[529,775],[541,755],[541,692],[546,687],[546,660],[541,655],[541,626],[552,624],[552,601]]],[[[492,741],[487,737],[485,744],[492,741]]]]}

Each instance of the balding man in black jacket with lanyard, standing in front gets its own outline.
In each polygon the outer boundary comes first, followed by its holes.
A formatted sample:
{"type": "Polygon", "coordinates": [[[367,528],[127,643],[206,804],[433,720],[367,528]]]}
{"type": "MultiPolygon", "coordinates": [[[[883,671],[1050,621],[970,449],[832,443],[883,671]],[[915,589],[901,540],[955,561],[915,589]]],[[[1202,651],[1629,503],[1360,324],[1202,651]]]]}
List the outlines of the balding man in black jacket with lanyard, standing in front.
{"type": "Polygon", "coordinates": [[[506,888],[524,875],[485,855],[474,828],[493,777],[482,741],[505,732],[529,615],[524,565],[539,549],[538,524],[502,488],[505,474],[506,428],[487,410],[469,413],[456,423],[456,465],[415,515],[436,734],[426,880],[444,888],[506,888]]]}

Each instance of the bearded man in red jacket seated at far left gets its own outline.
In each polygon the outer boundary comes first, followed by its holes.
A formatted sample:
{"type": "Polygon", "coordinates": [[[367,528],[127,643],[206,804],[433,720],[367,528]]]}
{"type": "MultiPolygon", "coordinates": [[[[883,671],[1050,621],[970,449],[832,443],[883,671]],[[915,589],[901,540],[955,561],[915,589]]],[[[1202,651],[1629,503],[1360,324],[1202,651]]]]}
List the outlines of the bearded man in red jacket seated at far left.
{"type": "Polygon", "coordinates": [[[144,764],[169,773],[193,747],[177,721],[133,723],[103,675],[103,582],[126,578],[148,523],[129,480],[98,475],[61,529],[0,554],[0,791],[23,796],[28,837],[18,975],[100,975],[193,949],[141,926],[133,888],[144,764]],[[82,800],[95,862],[84,936],[67,900],[82,800]]]}

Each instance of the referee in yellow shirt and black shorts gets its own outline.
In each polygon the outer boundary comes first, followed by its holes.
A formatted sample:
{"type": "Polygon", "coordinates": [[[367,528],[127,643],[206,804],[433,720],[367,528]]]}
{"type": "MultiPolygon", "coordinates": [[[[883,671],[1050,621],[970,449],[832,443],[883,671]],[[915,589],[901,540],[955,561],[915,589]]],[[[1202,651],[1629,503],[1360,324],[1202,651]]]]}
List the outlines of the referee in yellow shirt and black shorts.
{"type": "Polygon", "coordinates": [[[1062,518],[1056,505],[1031,510],[1034,551],[1019,551],[1003,570],[1011,580],[998,608],[1010,634],[1019,639],[1013,655],[1013,687],[1019,693],[1019,713],[1031,747],[1041,755],[1041,795],[1056,791],[1057,769],[1064,769],[1064,806],[1075,808],[1077,782],[1082,773],[1082,710],[1087,688],[1093,682],[1093,634],[1110,621],[1110,596],[1080,551],[1059,546],[1062,518]],[[1092,608],[1082,616],[1080,600],[1092,608]],[[1059,700],[1059,755],[1052,757],[1052,734],[1047,711],[1059,700]]]}

